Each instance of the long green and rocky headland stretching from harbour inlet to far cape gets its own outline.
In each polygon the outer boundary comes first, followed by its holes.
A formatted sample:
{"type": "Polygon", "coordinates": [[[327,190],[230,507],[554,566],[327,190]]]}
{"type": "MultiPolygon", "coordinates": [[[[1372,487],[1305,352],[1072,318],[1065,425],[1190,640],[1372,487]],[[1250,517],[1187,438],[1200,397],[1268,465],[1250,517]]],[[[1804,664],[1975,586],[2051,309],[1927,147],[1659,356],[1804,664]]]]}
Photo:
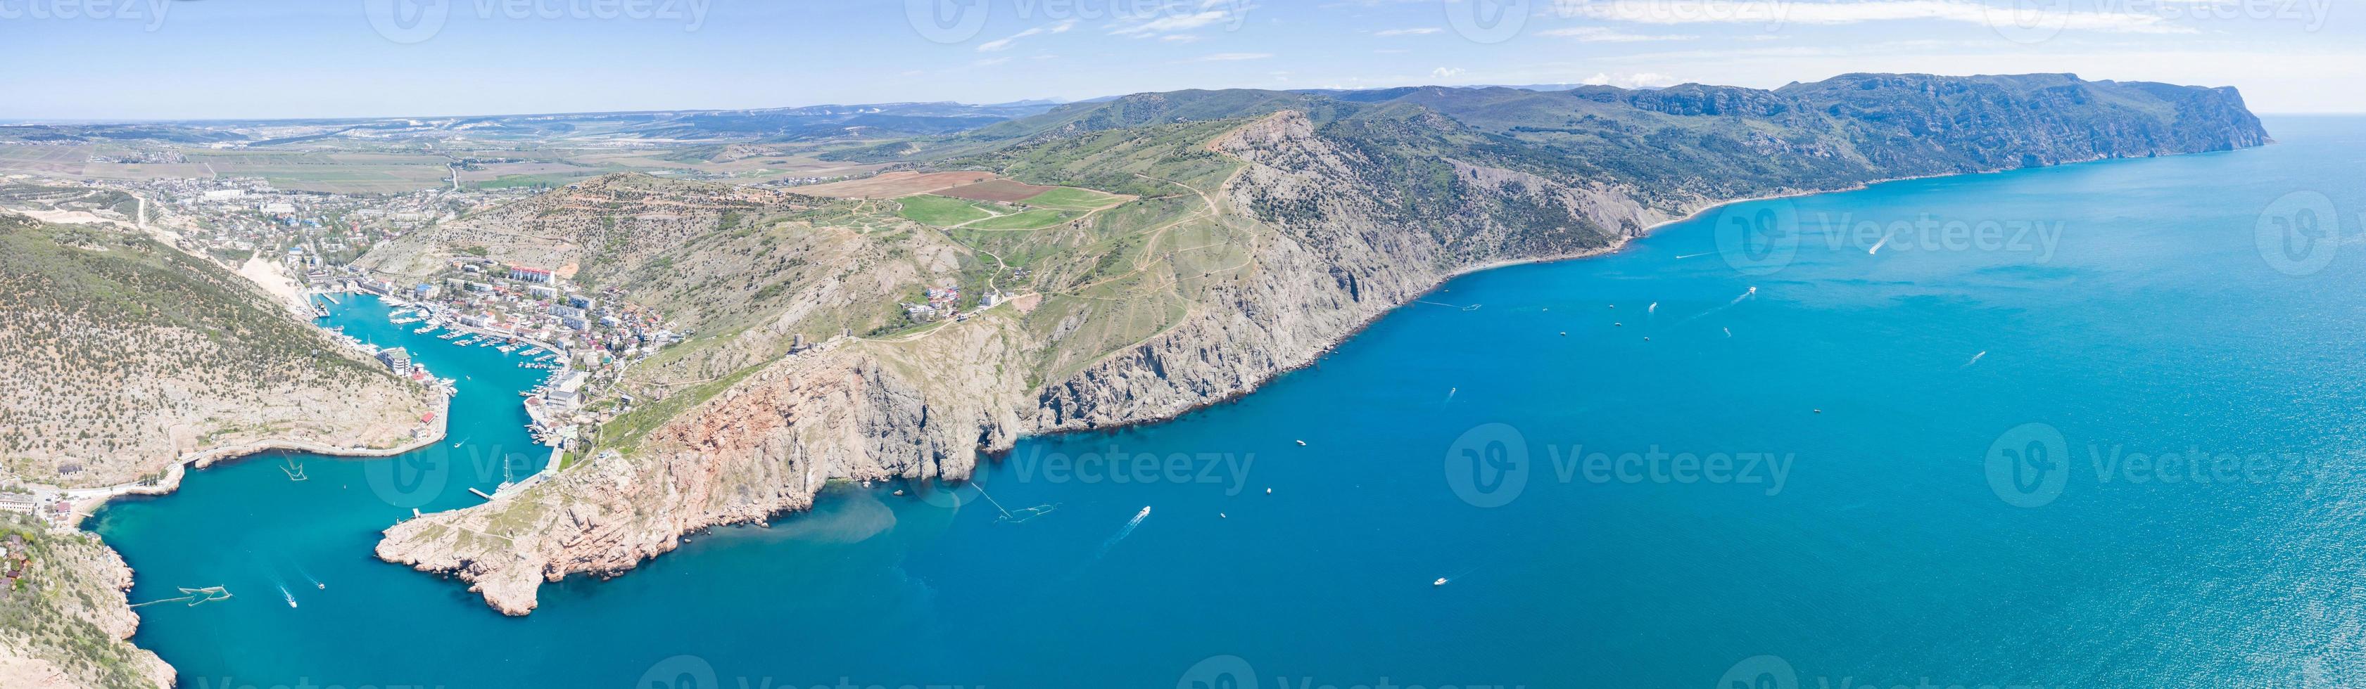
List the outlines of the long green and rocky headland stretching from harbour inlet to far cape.
{"type": "Polygon", "coordinates": [[[400,523],[379,556],[525,613],[544,580],[807,509],[823,481],[965,478],[1020,436],[1249,393],[1460,272],[1748,197],[2264,142],[2234,90],[1841,76],[1129,95],[849,149],[911,173],[861,185],[601,178],[364,258],[565,265],[696,334],[606,388],[551,481],[400,523]]]}

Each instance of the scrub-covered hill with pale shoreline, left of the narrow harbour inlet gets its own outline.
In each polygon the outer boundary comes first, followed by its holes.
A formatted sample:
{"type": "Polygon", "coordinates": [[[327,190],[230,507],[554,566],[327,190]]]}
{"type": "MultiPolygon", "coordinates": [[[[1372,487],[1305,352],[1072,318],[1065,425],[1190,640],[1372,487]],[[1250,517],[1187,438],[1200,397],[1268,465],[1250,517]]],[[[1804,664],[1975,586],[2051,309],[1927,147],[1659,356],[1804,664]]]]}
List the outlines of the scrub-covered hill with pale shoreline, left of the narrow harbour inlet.
{"type": "Polygon", "coordinates": [[[147,234],[0,215],[0,476],[154,481],[258,440],[393,447],[424,388],[289,317],[251,282],[147,234]]]}

